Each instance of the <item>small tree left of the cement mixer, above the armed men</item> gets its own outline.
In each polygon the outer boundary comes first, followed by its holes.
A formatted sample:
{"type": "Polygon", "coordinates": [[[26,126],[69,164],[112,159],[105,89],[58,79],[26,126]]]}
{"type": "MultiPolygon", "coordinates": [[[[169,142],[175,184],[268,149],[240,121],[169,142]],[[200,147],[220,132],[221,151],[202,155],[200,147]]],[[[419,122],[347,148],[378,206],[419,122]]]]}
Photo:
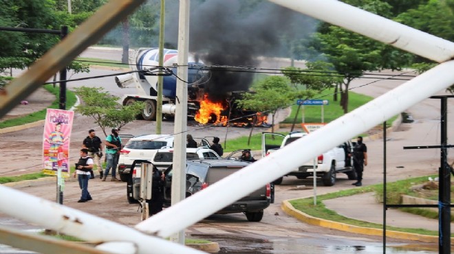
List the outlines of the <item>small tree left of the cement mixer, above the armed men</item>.
{"type": "Polygon", "coordinates": [[[120,106],[117,103],[119,97],[111,96],[96,87],[82,86],[76,88],[78,95],[84,102],[76,107],[76,112],[93,117],[95,123],[101,128],[107,137],[106,128],[121,128],[136,119],[136,115],[144,107],[142,102],[134,102],[128,106],[120,106]]]}

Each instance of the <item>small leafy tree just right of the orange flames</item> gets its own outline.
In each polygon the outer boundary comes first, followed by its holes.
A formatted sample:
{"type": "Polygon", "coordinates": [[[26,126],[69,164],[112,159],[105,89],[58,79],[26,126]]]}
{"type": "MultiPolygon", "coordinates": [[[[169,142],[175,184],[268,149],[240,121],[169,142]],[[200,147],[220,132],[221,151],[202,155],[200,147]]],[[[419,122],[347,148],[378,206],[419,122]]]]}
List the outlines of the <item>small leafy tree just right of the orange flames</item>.
{"type": "Polygon", "coordinates": [[[244,93],[237,104],[252,111],[270,112],[272,114],[272,132],[274,132],[274,115],[279,108],[289,106],[299,97],[308,97],[311,90],[298,90],[290,85],[290,80],[282,76],[269,76],[252,84],[252,92],[244,93]]]}

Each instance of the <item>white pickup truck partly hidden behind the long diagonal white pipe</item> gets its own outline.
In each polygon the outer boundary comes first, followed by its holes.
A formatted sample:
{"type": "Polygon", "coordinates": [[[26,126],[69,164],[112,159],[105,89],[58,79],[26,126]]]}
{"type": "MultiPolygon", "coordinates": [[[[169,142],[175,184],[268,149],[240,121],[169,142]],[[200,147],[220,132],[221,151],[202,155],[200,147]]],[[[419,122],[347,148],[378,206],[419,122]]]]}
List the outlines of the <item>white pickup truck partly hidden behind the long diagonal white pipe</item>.
{"type": "MultiPolygon", "coordinates": [[[[305,132],[290,132],[288,135],[280,133],[262,132],[262,157],[266,157],[271,152],[277,151],[279,148],[287,146],[296,139],[307,135],[305,132]]],[[[314,175],[314,164],[316,168],[316,176],[321,177],[323,185],[332,186],[336,183],[336,173],[342,172],[347,174],[349,180],[356,180],[356,172],[353,168],[352,157],[349,157],[349,152],[352,148],[352,143],[345,141],[339,146],[319,155],[314,160],[307,161],[299,166],[288,176],[296,176],[296,178],[304,179],[307,176],[314,175]]],[[[274,184],[282,183],[282,177],[276,179],[274,184]]]]}

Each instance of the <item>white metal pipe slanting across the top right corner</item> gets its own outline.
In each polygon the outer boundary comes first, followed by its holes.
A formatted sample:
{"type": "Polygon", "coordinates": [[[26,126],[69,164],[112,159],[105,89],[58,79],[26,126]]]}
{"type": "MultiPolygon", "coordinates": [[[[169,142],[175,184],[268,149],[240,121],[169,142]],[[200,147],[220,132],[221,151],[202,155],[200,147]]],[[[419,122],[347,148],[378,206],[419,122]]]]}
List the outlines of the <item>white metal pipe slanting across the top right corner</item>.
{"type": "Polygon", "coordinates": [[[454,44],[451,41],[415,30],[341,1],[269,1],[437,62],[451,60],[454,56],[454,44]]]}

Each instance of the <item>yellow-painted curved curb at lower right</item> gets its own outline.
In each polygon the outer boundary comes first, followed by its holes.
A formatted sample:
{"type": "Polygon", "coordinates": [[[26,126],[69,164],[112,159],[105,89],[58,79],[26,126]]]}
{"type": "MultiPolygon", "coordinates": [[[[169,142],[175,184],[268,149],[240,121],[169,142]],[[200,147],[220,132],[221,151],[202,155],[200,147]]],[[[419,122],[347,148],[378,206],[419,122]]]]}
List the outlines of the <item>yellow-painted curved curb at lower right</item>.
{"type": "MultiPolygon", "coordinates": [[[[300,198],[294,198],[291,200],[296,200],[300,198]]],[[[363,235],[376,235],[382,236],[383,230],[382,229],[373,229],[367,227],[359,227],[350,224],[334,222],[332,220],[325,220],[321,218],[316,218],[313,216],[308,215],[307,213],[303,213],[302,211],[296,210],[289,202],[290,200],[283,200],[281,209],[285,211],[288,215],[305,222],[307,224],[319,226],[319,227],[326,227],[328,229],[337,229],[340,231],[345,231],[349,233],[360,233],[363,235]]],[[[419,242],[431,242],[431,243],[438,243],[438,236],[432,235],[420,235],[417,233],[406,233],[406,232],[399,232],[399,231],[391,231],[387,230],[386,235],[389,238],[396,238],[402,240],[413,240],[419,242]]],[[[451,238],[451,245],[454,244],[454,238],[451,238]]]]}

